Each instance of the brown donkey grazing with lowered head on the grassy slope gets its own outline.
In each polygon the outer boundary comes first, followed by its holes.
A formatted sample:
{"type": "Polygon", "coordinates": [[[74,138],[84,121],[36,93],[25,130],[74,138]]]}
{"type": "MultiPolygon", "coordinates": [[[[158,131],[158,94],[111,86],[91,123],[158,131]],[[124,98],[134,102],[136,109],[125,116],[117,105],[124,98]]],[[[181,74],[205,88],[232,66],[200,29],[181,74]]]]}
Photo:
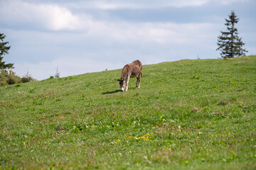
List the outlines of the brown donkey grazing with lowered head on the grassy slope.
{"type": "Polygon", "coordinates": [[[136,86],[139,88],[140,80],[142,77],[142,62],[139,60],[135,60],[130,64],[126,64],[122,69],[121,79],[115,79],[119,81],[121,91],[124,91],[124,87],[126,86],[125,91],[128,90],[129,78],[137,77],[136,86]]]}

